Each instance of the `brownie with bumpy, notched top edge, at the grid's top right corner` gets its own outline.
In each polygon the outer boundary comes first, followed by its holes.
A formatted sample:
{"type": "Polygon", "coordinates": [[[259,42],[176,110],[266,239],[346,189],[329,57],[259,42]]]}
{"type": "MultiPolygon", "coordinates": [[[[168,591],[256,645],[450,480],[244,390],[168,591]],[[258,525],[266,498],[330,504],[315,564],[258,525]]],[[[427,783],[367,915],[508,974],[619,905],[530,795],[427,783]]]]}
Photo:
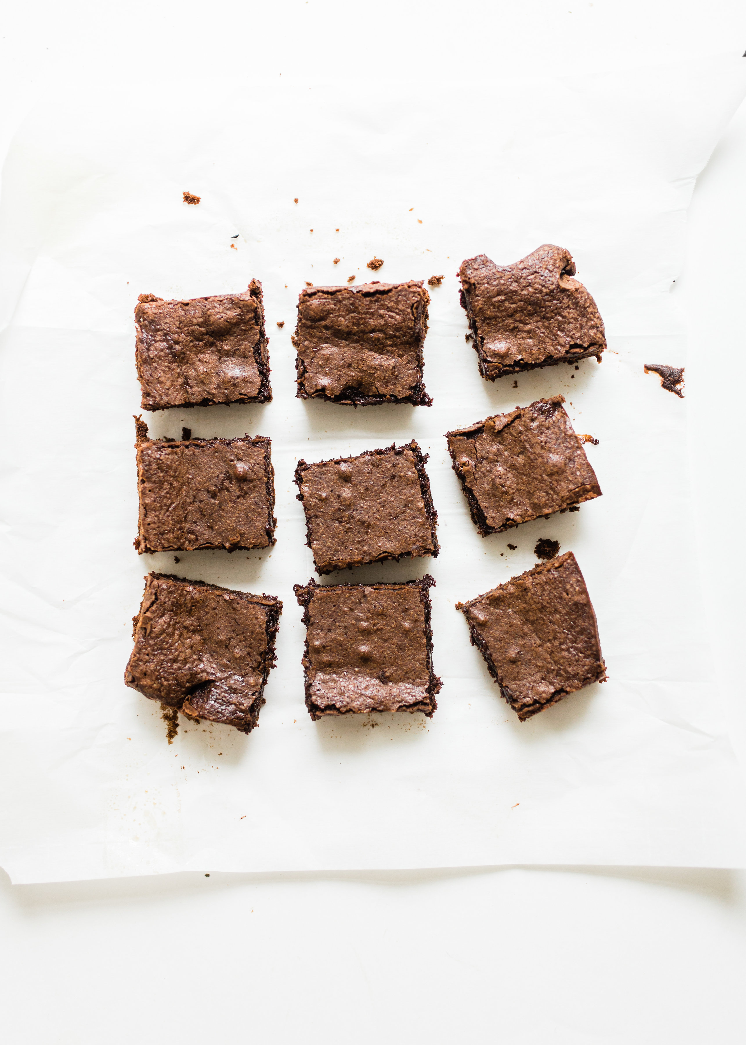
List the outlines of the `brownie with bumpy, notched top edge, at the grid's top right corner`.
{"type": "Polygon", "coordinates": [[[568,251],[544,243],[497,265],[484,254],[462,261],[461,304],[466,309],[480,373],[493,381],[536,367],[577,363],[606,348],[604,323],[575,275],[568,251]]]}

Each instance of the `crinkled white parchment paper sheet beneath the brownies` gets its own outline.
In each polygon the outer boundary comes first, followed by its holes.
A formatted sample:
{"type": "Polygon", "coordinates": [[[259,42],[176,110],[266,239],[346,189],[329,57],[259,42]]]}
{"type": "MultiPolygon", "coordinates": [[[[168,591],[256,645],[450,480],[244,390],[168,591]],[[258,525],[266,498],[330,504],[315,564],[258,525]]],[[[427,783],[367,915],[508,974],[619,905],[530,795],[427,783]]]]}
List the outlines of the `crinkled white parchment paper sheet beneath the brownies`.
{"type": "MultiPolygon", "coordinates": [[[[334,87],[215,85],[50,98],[6,163],[2,333],[2,822],[15,882],[180,869],[498,863],[743,865],[743,792],[703,638],[686,401],[669,291],[694,179],[746,90],[740,57],[607,75],[334,87]],[[199,207],[182,192],[202,196],[199,207]],[[294,198],[298,203],[294,203],[294,198]],[[336,231],[339,230],[339,231],[336,231]],[[237,238],[232,238],[236,236],[237,238]],[[603,363],[494,385],[465,341],[456,271],[566,247],[606,322],[603,363]],[[235,248],[235,249],[234,249],[235,248]],[[304,281],[426,279],[432,409],[295,398],[304,281]],[[334,257],[342,260],[332,263],[334,257]],[[133,307],[264,288],[274,400],[145,415],[153,434],[272,437],[277,544],[138,557],[133,307]],[[282,329],[278,321],[284,321],[282,329]],[[562,393],[604,495],[481,538],[443,433],[562,393]],[[429,572],[439,709],[312,723],[301,609],[313,575],[297,460],[416,438],[440,556],[429,572]],[[609,680],[519,724],[453,604],[573,550],[609,680]],[[508,543],[516,544],[511,551],[508,543]],[[123,683],[148,570],[278,595],[260,726],[185,724],[123,683]]],[[[488,72],[486,70],[485,72],[488,72]]],[[[352,580],[349,573],[328,580],[352,580]]]]}

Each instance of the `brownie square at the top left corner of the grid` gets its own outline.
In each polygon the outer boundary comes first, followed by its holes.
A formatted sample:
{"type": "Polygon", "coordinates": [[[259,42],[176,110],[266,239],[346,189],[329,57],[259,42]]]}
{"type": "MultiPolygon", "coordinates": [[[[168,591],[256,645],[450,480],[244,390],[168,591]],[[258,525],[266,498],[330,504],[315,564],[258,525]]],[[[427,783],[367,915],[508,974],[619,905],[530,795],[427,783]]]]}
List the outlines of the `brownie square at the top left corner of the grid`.
{"type": "Polygon", "coordinates": [[[135,326],[143,410],[272,399],[258,280],[242,294],[189,301],[141,294],[135,326]]]}

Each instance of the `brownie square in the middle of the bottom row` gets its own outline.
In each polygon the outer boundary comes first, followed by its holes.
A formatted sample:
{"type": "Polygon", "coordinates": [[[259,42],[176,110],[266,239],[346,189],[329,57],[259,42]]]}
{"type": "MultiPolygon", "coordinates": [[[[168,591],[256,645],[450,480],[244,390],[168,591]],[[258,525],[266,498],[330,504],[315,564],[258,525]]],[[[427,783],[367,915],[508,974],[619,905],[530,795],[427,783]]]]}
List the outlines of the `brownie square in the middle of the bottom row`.
{"type": "Polygon", "coordinates": [[[296,584],[304,607],[306,707],[324,715],[423,712],[441,680],[433,671],[432,577],[404,584],[296,584]]]}

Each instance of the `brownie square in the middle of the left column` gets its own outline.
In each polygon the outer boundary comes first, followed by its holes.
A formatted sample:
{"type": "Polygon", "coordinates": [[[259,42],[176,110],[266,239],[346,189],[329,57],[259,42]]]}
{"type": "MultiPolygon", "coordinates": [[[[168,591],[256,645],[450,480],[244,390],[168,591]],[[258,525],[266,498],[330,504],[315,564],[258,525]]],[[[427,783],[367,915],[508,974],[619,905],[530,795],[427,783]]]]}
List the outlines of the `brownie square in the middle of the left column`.
{"type": "Polygon", "coordinates": [[[137,426],[140,555],[275,543],[275,469],[265,436],[148,439],[147,426],[137,426]]]}

